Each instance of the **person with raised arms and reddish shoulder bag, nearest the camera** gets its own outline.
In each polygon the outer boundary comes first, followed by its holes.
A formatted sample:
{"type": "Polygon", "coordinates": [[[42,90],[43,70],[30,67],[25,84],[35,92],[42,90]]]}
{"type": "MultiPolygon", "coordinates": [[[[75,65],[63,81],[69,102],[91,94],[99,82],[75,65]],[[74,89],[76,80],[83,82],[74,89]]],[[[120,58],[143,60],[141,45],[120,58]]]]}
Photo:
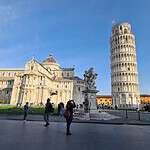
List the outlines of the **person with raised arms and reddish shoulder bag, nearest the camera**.
{"type": "Polygon", "coordinates": [[[76,107],[76,105],[75,105],[75,102],[73,100],[69,100],[67,102],[66,111],[68,111],[69,116],[66,118],[66,122],[67,122],[66,135],[71,135],[70,125],[71,125],[71,122],[73,119],[73,108],[75,108],[75,107],[76,107]]]}

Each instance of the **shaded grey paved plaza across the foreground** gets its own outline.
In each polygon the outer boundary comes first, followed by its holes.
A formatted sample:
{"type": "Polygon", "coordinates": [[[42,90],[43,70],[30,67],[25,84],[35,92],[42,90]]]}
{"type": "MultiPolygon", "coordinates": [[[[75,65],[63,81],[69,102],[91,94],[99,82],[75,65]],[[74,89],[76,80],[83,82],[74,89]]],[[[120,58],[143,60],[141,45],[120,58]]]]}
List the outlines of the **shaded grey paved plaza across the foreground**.
{"type": "Polygon", "coordinates": [[[0,120],[0,150],[149,150],[150,126],[0,120]]]}

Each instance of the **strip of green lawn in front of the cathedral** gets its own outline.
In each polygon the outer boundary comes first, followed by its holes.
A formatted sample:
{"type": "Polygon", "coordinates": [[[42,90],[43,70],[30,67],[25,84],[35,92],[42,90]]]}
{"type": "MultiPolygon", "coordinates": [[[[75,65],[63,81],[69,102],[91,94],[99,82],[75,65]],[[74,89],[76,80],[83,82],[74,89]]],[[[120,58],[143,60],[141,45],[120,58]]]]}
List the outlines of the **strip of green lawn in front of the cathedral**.
{"type": "MultiPolygon", "coordinates": [[[[16,106],[9,106],[9,105],[2,105],[0,106],[0,114],[8,114],[8,115],[22,115],[24,112],[23,107],[16,107],[16,106]]],[[[54,110],[53,114],[56,114],[57,109],[54,110]]],[[[43,115],[44,114],[44,107],[30,107],[29,114],[32,115],[43,115]]]]}

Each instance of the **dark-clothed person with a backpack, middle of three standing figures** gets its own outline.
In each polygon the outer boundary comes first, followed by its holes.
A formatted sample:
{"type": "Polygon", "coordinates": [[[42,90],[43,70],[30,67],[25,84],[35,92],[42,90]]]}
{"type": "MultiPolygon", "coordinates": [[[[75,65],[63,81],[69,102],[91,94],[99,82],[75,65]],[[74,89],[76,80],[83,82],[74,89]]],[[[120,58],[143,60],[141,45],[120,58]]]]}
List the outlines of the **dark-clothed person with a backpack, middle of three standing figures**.
{"type": "Polygon", "coordinates": [[[47,99],[47,102],[45,104],[45,112],[44,112],[44,120],[46,122],[46,124],[44,125],[45,127],[47,127],[49,125],[49,114],[50,112],[52,112],[53,107],[52,104],[50,102],[50,99],[47,99]]]}

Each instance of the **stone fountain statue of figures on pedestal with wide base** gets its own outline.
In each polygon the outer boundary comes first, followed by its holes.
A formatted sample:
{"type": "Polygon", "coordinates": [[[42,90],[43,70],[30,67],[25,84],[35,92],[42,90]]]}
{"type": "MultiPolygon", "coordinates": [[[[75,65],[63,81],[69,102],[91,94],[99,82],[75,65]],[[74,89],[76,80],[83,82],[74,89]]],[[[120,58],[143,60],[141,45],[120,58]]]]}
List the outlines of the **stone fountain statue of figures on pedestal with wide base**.
{"type": "Polygon", "coordinates": [[[111,120],[119,118],[107,112],[98,111],[96,105],[96,84],[97,73],[94,72],[93,68],[86,70],[84,73],[85,90],[82,91],[84,94],[84,110],[79,111],[76,115],[76,119],[79,120],[111,120]]]}

